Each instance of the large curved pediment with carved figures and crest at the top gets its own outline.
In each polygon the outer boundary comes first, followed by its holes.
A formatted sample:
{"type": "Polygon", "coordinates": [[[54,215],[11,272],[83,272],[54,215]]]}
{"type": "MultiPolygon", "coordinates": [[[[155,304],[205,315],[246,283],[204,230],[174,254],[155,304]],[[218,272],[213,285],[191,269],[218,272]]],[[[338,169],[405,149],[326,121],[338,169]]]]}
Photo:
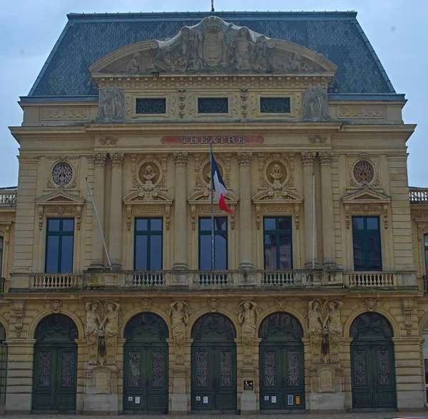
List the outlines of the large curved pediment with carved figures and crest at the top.
{"type": "Polygon", "coordinates": [[[337,67],[299,44],[271,39],[215,16],[183,27],[166,41],[142,41],[93,64],[102,74],[269,73],[324,74],[337,67]]]}

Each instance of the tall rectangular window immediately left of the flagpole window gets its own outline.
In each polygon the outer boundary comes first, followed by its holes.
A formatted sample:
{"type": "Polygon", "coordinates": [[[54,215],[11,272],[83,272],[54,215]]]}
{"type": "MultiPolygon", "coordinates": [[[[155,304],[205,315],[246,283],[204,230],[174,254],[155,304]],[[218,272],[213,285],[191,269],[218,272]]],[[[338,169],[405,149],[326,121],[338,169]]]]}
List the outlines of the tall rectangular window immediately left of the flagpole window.
{"type": "Polygon", "coordinates": [[[161,271],[162,225],[162,218],[136,218],[134,241],[136,271],[161,271]]]}

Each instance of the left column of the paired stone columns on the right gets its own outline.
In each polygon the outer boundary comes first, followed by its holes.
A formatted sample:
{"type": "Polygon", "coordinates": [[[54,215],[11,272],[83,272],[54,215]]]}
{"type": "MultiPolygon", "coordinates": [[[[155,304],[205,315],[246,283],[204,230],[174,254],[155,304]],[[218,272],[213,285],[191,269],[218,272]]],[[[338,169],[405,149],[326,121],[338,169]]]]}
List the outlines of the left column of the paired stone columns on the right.
{"type": "Polygon", "coordinates": [[[312,234],[315,234],[315,267],[317,267],[317,230],[312,227],[312,173],[314,173],[314,160],[317,153],[303,151],[303,198],[305,206],[305,268],[312,267],[312,234]]]}

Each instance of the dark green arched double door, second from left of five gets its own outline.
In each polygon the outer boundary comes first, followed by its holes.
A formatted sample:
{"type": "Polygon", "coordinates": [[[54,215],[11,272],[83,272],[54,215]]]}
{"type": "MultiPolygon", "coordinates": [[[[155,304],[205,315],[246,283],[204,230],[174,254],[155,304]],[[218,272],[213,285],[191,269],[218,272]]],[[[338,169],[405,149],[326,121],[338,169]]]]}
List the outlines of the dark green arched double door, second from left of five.
{"type": "Polygon", "coordinates": [[[140,313],[124,338],[123,410],[168,413],[168,325],[155,313],[140,313]]]}

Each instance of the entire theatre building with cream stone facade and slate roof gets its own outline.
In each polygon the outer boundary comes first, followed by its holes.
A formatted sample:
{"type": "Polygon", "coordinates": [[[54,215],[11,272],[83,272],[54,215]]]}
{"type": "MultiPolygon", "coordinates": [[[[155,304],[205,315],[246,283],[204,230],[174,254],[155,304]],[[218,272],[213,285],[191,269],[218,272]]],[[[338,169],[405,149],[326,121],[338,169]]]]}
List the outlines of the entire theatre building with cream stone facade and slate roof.
{"type": "Polygon", "coordinates": [[[424,409],[428,189],[355,12],[70,14],[19,104],[6,412],[424,409]]]}

